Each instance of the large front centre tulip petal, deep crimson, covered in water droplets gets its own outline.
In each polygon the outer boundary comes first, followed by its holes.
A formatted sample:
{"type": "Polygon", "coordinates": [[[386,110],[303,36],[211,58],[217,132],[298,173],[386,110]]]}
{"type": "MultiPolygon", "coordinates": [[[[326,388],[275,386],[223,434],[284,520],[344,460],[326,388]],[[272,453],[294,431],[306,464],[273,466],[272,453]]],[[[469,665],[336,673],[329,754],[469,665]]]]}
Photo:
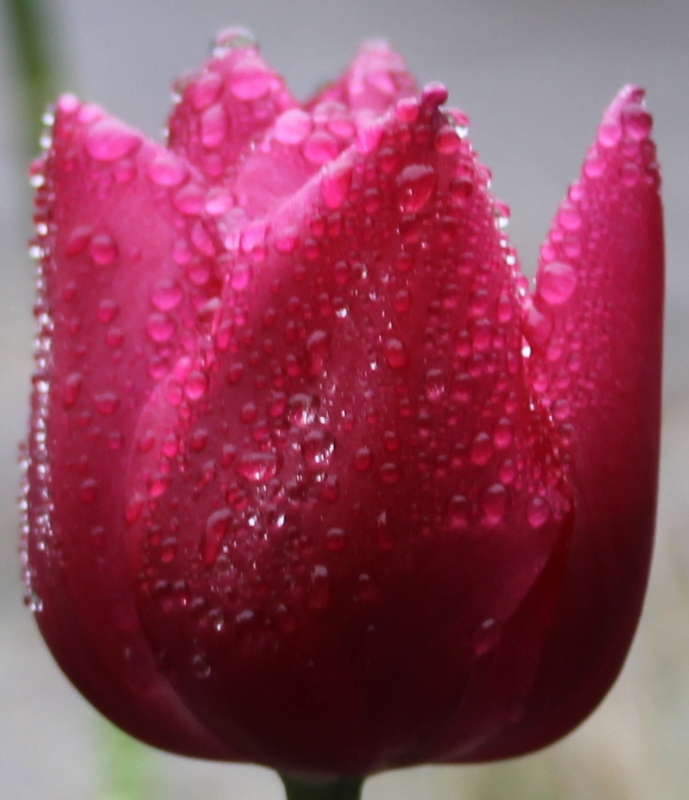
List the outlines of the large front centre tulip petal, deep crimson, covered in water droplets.
{"type": "Polygon", "coordinates": [[[204,725],[281,769],[415,762],[431,734],[469,748],[543,650],[552,592],[530,598],[557,576],[567,489],[513,256],[444,99],[400,103],[269,217],[213,347],[180,364],[198,392],[170,378],[139,422],[155,443],[129,491],[167,476],[128,534],[152,648],[204,725]],[[496,666],[525,603],[542,625],[496,666]],[[458,721],[477,673],[478,732],[458,721]]]}

